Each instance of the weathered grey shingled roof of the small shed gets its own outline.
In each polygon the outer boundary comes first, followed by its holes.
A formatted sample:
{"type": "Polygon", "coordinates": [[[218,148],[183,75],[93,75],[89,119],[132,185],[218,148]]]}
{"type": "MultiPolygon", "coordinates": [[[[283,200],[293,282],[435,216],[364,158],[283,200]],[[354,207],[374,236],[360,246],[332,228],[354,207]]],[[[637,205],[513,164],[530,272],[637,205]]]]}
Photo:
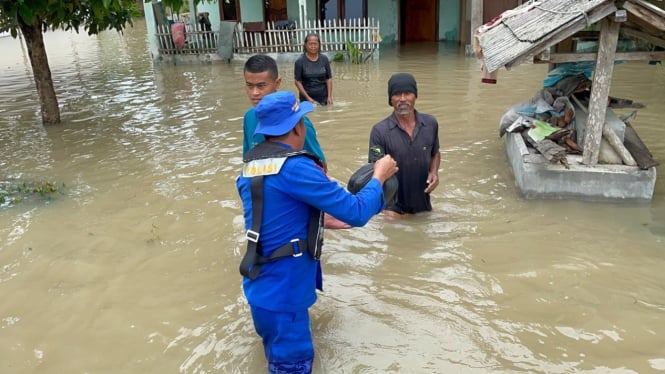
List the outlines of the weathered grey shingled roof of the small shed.
{"type": "Polygon", "coordinates": [[[476,52],[488,72],[516,66],[573,36],[617,10],[625,10],[622,29],[665,47],[665,10],[643,0],[528,1],[503,12],[476,31],[476,52]]]}

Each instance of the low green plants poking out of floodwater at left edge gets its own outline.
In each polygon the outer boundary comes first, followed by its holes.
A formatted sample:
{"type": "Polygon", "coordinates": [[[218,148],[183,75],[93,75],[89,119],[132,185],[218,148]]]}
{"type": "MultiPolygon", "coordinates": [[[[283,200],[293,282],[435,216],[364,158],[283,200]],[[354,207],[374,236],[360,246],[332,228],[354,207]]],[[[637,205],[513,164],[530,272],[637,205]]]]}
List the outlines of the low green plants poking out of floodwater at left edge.
{"type": "MultiPolygon", "coordinates": [[[[64,187],[63,183],[62,188],[64,187]]],[[[20,179],[0,180],[0,208],[25,201],[51,200],[58,191],[60,191],[60,188],[55,182],[20,179]]]]}

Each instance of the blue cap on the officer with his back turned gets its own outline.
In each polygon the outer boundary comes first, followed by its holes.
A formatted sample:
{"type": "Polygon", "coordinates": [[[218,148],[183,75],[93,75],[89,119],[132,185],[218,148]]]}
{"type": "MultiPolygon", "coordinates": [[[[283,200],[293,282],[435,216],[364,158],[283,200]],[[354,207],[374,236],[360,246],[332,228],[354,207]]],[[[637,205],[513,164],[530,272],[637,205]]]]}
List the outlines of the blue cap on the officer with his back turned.
{"type": "Polygon", "coordinates": [[[266,95],[254,109],[259,123],[254,134],[284,135],[296,126],[305,114],[314,111],[309,101],[298,103],[290,91],[278,91],[266,95]]]}

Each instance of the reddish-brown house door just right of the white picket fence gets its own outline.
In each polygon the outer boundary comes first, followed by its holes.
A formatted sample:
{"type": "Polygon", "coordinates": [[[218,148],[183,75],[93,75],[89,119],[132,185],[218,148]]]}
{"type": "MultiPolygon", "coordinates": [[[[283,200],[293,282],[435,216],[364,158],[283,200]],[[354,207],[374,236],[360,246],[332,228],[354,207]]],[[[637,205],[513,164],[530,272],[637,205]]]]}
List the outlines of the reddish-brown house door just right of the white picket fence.
{"type": "Polygon", "coordinates": [[[439,0],[400,1],[400,40],[430,42],[438,38],[439,0]]]}

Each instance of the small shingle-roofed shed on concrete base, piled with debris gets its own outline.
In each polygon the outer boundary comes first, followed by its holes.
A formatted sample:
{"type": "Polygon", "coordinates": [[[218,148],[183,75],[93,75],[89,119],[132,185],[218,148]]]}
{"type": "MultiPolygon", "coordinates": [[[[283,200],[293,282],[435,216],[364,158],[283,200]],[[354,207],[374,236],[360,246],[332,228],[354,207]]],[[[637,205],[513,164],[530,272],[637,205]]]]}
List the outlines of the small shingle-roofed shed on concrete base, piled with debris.
{"type": "Polygon", "coordinates": [[[500,68],[524,62],[550,64],[550,72],[561,75],[531,99],[534,107],[549,104],[549,117],[518,110],[522,115],[504,115],[500,122],[524,196],[651,200],[657,162],[630,126],[630,118],[619,118],[611,109],[640,105],[612,98],[609,92],[616,61],[665,60],[665,10],[643,0],[528,1],[479,27],[474,49],[486,83],[496,82],[500,68]],[[620,38],[637,41],[636,50],[617,52],[620,38]],[[589,41],[597,48],[587,51],[589,41]],[[586,81],[579,67],[590,67],[586,81]],[[559,98],[570,102],[560,102],[560,112],[551,110],[559,98]],[[605,148],[619,161],[603,163],[605,148]]]}

